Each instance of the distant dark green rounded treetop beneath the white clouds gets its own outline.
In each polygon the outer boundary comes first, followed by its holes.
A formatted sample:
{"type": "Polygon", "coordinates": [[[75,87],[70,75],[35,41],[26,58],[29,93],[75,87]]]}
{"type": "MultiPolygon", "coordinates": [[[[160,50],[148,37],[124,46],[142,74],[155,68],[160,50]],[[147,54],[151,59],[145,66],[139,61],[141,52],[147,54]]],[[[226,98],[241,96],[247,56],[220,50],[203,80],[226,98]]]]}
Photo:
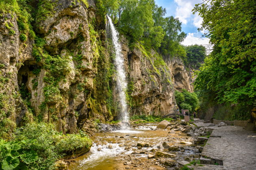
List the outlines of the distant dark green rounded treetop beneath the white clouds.
{"type": "Polygon", "coordinates": [[[187,53],[186,64],[192,66],[195,69],[198,69],[206,57],[205,47],[202,45],[190,45],[186,46],[185,49],[187,53]]]}

